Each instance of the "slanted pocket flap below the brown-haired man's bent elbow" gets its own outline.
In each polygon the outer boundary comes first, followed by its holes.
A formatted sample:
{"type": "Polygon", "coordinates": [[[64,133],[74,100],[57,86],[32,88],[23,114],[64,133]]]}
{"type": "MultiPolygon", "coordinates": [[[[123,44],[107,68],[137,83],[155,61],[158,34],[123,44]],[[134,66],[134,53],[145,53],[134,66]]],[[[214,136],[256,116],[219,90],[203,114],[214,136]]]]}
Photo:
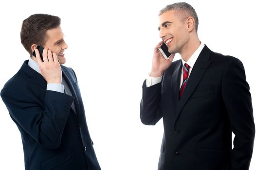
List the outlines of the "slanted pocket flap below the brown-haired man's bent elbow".
{"type": "Polygon", "coordinates": [[[68,151],[64,151],[51,159],[48,159],[41,163],[42,170],[51,170],[71,159],[71,155],[68,151]]]}

